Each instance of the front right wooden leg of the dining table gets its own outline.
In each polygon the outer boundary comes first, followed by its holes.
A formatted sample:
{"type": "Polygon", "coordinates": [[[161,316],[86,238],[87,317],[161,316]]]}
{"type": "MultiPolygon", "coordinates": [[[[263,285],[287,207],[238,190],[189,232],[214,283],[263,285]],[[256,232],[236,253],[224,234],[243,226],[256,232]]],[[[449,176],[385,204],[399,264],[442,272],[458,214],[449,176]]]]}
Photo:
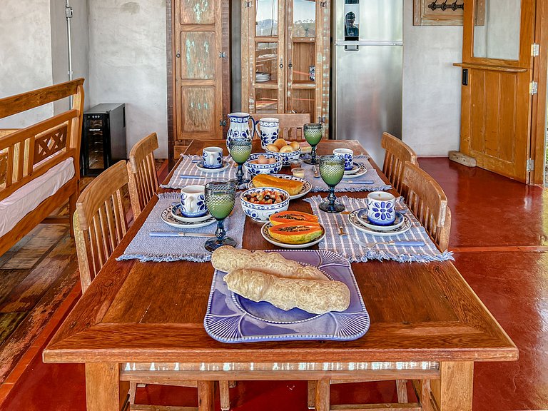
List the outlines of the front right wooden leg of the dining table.
{"type": "Polygon", "coordinates": [[[440,362],[440,380],[430,387],[440,411],[472,411],[474,362],[440,362]]]}

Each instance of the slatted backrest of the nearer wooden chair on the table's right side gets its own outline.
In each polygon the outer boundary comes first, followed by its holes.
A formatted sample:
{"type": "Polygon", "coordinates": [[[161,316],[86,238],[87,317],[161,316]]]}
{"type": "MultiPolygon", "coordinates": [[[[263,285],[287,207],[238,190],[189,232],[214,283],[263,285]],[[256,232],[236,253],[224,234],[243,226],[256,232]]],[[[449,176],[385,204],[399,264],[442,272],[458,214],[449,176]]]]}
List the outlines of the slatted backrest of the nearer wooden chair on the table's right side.
{"type": "Polygon", "coordinates": [[[403,186],[407,206],[426,228],[441,251],[447,250],[451,230],[451,213],[447,213],[447,196],[440,184],[417,164],[405,162],[403,186]]]}

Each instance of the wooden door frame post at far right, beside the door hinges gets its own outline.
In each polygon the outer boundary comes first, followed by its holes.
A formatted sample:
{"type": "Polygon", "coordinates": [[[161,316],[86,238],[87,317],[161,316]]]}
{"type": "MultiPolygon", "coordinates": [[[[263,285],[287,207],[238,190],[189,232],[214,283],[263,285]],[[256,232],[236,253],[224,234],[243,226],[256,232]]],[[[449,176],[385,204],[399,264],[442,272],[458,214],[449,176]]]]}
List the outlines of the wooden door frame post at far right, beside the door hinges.
{"type": "Polygon", "coordinates": [[[539,56],[534,58],[533,81],[537,81],[538,93],[533,95],[531,118],[531,149],[529,158],[534,160],[534,170],[529,172],[529,184],[544,183],[544,156],[546,144],[547,83],[548,83],[548,4],[537,0],[534,40],[539,44],[539,56]]]}

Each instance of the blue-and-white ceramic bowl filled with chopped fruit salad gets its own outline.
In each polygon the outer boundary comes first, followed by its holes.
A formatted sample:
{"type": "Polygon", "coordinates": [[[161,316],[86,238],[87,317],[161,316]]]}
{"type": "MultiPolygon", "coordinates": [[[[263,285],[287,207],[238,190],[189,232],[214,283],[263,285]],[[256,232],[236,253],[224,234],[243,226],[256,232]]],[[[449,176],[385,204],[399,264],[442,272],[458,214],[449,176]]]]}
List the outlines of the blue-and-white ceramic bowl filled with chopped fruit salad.
{"type": "Polygon", "coordinates": [[[270,215],[285,211],[289,207],[289,193],[280,188],[250,188],[240,196],[245,215],[259,223],[266,223],[270,215]]]}

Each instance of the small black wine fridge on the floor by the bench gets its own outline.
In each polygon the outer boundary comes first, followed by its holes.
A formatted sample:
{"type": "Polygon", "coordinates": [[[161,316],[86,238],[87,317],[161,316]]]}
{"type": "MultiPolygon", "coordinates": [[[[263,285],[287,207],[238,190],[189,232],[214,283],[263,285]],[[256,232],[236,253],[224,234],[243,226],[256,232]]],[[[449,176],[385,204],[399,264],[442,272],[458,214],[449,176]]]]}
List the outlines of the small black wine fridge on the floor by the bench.
{"type": "Polygon", "coordinates": [[[106,168],[126,159],[126,105],[103,103],[83,113],[81,170],[98,176],[106,168]]]}

